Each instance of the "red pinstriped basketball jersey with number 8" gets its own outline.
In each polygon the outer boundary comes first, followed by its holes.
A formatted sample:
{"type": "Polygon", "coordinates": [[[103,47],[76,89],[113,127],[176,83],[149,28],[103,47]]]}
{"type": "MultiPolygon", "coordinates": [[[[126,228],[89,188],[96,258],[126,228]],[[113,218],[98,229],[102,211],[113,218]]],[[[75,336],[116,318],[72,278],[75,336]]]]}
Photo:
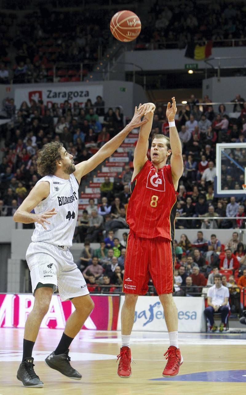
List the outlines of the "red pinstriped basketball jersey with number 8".
{"type": "Polygon", "coordinates": [[[170,165],[158,171],[147,160],[131,182],[126,221],[138,237],[165,237],[174,241],[176,195],[170,165]]]}

